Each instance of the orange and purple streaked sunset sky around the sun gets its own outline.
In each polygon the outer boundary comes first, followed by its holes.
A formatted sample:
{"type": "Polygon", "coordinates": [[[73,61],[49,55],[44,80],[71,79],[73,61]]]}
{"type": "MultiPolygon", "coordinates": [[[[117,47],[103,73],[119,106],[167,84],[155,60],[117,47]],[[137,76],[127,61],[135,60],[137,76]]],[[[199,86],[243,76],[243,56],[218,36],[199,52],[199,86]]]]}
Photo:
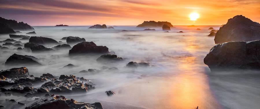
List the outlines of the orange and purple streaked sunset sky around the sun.
{"type": "Polygon", "coordinates": [[[222,25],[235,15],[260,22],[260,0],[0,0],[0,17],[31,26],[222,25]],[[199,18],[191,21],[194,12],[199,18]]]}

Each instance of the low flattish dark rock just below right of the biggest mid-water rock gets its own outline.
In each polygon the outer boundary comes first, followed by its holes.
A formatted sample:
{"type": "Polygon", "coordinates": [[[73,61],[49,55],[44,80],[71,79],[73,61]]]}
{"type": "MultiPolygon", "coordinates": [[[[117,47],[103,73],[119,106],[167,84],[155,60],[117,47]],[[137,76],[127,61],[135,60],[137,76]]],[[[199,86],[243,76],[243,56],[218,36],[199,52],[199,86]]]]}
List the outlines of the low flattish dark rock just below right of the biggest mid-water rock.
{"type": "Polygon", "coordinates": [[[101,55],[98,59],[96,59],[96,61],[99,61],[99,62],[106,62],[106,61],[109,61],[109,62],[115,62],[115,61],[122,61],[123,59],[121,57],[117,57],[117,55],[114,55],[114,54],[104,54],[104,55],[101,55]]]}

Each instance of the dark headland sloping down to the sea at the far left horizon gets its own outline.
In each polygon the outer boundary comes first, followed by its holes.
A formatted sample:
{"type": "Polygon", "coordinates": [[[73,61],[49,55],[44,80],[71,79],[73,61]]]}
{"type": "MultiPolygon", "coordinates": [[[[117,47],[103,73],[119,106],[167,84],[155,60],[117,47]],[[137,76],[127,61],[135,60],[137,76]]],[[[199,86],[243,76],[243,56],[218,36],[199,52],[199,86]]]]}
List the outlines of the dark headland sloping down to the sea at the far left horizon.
{"type": "Polygon", "coordinates": [[[34,31],[33,27],[23,22],[17,22],[15,20],[7,20],[2,17],[0,17],[0,22],[8,25],[8,27],[12,28],[13,30],[34,31]]]}

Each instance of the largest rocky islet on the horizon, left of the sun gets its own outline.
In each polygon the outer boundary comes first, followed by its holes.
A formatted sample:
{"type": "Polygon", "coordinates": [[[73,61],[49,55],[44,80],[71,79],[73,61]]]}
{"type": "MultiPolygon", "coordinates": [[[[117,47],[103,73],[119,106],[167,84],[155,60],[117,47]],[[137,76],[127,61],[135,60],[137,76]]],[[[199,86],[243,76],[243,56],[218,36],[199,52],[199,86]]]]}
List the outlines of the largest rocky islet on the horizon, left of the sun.
{"type": "Polygon", "coordinates": [[[155,21],[144,21],[142,24],[139,24],[136,27],[162,27],[164,24],[166,24],[169,27],[172,27],[172,24],[170,22],[155,22],[155,21]]]}

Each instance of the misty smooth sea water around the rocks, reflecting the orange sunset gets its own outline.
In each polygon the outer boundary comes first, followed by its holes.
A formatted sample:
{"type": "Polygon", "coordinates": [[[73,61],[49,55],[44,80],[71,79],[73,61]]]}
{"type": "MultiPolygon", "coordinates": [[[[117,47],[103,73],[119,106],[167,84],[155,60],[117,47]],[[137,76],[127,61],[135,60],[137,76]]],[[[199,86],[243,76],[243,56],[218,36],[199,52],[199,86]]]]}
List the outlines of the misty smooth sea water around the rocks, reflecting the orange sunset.
{"type": "MultiPolygon", "coordinates": [[[[259,108],[260,80],[259,71],[211,72],[203,59],[215,45],[214,37],[208,37],[208,28],[216,30],[220,26],[176,26],[169,33],[154,28],[156,31],[143,31],[135,26],[114,26],[110,29],[88,29],[89,26],[34,26],[36,35],[53,38],[57,41],[67,36],[85,38],[87,42],[107,46],[124,60],[118,63],[99,63],[101,54],[86,54],[70,57],[68,49],[54,52],[32,53],[31,51],[1,50],[0,69],[27,67],[29,74],[39,77],[43,73],[55,76],[73,74],[76,77],[90,79],[96,87],[87,93],[62,94],[66,98],[94,103],[101,102],[104,109],[201,109],[207,108],[259,108]],[[201,30],[196,30],[200,28],[201,30]],[[66,31],[62,31],[66,29],[66,31]],[[122,32],[128,30],[128,32],[122,32]],[[184,33],[177,33],[183,31],[184,33]],[[31,55],[38,58],[43,66],[4,65],[12,54],[31,55]],[[148,62],[151,67],[127,68],[127,63],[148,62]],[[73,64],[76,67],[62,68],[73,64]],[[79,73],[82,70],[117,67],[118,70],[102,70],[98,73],[79,73]],[[107,96],[105,91],[116,93],[107,96]]],[[[25,35],[28,31],[21,31],[25,35]]],[[[0,40],[9,38],[1,35],[0,40]]],[[[15,39],[18,40],[18,39],[15,39]]],[[[22,41],[23,43],[28,42],[22,41]]],[[[2,44],[1,44],[2,45],[2,44]]],[[[23,45],[23,44],[22,44],[23,45]]],[[[56,45],[44,45],[51,48],[56,45]]],[[[74,45],[71,45],[74,46],[74,45]]],[[[8,46],[8,48],[13,48],[8,46]]],[[[17,47],[16,47],[17,48],[17,47]]],[[[34,87],[40,87],[35,85],[34,87]]],[[[6,108],[25,108],[34,98],[23,96],[3,96],[0,104],[6,108]],[[26,106],[7,103],[5,99],[24,102],[26,106]]]]}

